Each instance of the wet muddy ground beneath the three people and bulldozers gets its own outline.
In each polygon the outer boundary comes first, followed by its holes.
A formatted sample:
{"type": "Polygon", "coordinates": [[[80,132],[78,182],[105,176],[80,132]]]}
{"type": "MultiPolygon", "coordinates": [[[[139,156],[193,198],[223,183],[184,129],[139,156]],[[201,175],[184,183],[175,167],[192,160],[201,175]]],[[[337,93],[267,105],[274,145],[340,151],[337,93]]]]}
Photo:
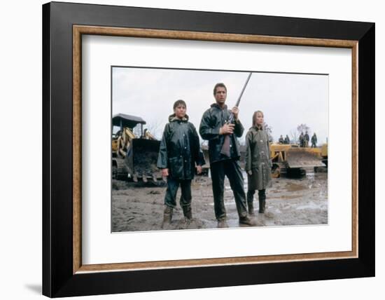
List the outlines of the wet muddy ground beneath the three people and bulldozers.
{"type": "MultiPolygon", "coordinates": [[[[244,176],[247,178],[246,176],[244,176]]],[[[245,182],[245,191],[247,183],[245,182]]],[[[166,186],[113,180],[112,231],[162,230],[166,186]]],[[[186,222],[181,207],[174,210],[172,229],[212,229],[217,222],[209,177],[195,177],[193,221],[186,222]]],[[[307,173],[302,179],[272,179],[267,189],[265,214],[258,214],[258,193],[254,207],[257,226],[285,226],[328,223],[328,174],[307,173]]],[[[180,197],[178,192],[177,199],[180,197]]],[[[239,227],[235,200],[225,181],[225,207],[228,225],[239,227]]],[[[243,226],[243,225],[242,225],[243,226]]]]}

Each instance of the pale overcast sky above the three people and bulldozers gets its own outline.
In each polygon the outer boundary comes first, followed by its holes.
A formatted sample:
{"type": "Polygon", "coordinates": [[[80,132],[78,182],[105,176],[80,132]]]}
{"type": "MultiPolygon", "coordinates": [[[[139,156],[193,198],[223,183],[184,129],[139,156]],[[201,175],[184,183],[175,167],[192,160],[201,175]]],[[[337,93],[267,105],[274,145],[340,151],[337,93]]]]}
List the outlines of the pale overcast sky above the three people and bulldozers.
{"type": "MultiPolygon", "coordinates": [[[[160,137],[176,100],[187,103],[187,114],[199,130],[202,114],[215,102],[213,88],[223,82],[228,88],[226,104],[233,107],[248,72],[113,67],[112,113],[143,118],[150,128],[157,125],[160,137]]],[[[306,123],[316,132],[318,144],[328,137],[328,76],[318,74],[253,73],[239,104],[239,118],[251,127],[253,111],[265,114],[274,141],[306,123]]],[[[146,128],[146,125],[144,126],[146,128]]],[[[116,131],[116,130],[114,130],[116,131]]],[[[154,131],[154,130],[153,130],[154,131]]],[[[244,136],[242,138],[244,138],[244,136]]]]}

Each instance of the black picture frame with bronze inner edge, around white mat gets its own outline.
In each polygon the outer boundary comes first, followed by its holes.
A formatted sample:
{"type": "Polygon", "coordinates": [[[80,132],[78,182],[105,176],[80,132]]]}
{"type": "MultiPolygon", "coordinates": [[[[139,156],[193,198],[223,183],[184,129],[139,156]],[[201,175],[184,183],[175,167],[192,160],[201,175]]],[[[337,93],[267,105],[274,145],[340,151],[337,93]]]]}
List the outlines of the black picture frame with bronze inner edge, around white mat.
{"type": "Polygon", "coordinates": [[[374,276],[373,23],[55,2],[43,5],[44,295],[115,294],[370,276],[374,276]],[[290,254],[281,255],[280,259],[241,257],[83,266],[83,34],[351,48],[352,114],[358,116],[352,124],[352,251],[290,254]]]}

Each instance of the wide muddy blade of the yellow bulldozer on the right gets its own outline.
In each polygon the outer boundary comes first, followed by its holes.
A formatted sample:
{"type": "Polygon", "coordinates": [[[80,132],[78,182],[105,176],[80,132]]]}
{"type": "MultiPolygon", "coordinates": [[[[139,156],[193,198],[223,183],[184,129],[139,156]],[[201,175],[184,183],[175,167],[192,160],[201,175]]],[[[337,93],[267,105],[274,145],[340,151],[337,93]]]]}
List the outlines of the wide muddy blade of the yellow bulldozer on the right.
{"type": "Polygon", "coordinates": [[[322,167],[320,151],[314,148],[290,148],[286,151],[288,168],[322,167]]]}

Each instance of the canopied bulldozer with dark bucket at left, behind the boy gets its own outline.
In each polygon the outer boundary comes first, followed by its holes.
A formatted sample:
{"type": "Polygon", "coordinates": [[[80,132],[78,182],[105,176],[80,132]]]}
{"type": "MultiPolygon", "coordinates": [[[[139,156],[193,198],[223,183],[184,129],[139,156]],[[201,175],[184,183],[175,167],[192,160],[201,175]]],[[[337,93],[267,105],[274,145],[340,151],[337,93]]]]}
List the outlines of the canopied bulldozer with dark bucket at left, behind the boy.
{"type": "Polygon", "coordinates": [[[144,130],[146,124],[139,116],[116,114],[112,118],[113,128],[119,130],[112,135],[112,177],[113,179],[131,179],[138,182],[148,179],[157,182],[162,179],[156,167],[160,141],[151,132],[144,130]],[[139,130],[134,130],[139,126],[139,130]],[[135,135],[134,131],[140,131],[135,135]]]}

